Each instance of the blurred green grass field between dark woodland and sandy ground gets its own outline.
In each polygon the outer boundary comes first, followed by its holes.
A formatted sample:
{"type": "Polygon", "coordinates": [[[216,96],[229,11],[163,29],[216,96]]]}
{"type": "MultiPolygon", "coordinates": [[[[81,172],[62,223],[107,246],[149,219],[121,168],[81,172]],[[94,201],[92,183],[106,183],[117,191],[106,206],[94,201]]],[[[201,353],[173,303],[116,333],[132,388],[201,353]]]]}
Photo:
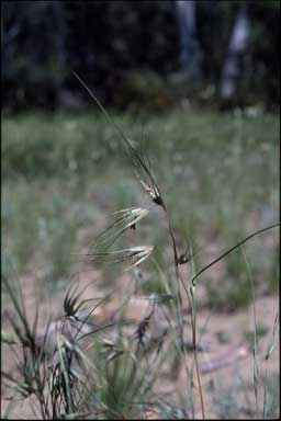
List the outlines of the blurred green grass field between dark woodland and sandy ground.
{"type": "MultiPolygon", "coordinates": [[[[149,157],[177,239],[198,252],[198,268],[279,220],[279,116],[235,110],[113,117],[149,157]]],[[[104,215],[144,201],[119,135],[98,112],[3,116],[4,273],[12,264],[20,275],[47,278],[54,288],[64,285],[72,252],[104,228],[104,215]]],[[[145,243],[165,244],[165,230],[154,218],[157,213],[139,236],[145,243]]],[[[277,293],[278,229],[252,239],[246,250],[257,294],[277,293]]],[[[157,248],[159,263],[165,253],[157,248]]],[[[228,309],[247,305],[250,285],[241,251],[223,264],[202,275],[204,303],[228,309]]],[[[161,287],[157,274],[150,277],[144,293],[161,287]]]]}

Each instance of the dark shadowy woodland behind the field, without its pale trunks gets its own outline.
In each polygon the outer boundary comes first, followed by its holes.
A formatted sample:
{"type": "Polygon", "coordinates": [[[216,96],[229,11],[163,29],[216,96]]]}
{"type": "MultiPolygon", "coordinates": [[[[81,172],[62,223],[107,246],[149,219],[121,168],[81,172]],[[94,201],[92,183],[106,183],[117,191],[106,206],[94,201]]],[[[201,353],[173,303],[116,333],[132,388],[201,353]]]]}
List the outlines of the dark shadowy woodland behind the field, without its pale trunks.
{"type": "MultiPolygon", "coordinates": [[[[89,96],[77,71],[106,105],[166,107],[186,95],[220,102],[217,87],[241,1],[196,1],[200,81],[175,84],[180,69],[173,1],[3,1],[2,104],[80,107],[89,96]],[[202,95],[205,89],[211,92],[202,95]],[[157,96],[157,101],[155,101],[157,96]],[[160,98],[160,99],[159,99],[160,98]]],[[[279,104],[279,1],[247,1],[250,35],[233,104],[279,104]]],[[[181,83],[181,82],[180,82],[181,83]]]]}

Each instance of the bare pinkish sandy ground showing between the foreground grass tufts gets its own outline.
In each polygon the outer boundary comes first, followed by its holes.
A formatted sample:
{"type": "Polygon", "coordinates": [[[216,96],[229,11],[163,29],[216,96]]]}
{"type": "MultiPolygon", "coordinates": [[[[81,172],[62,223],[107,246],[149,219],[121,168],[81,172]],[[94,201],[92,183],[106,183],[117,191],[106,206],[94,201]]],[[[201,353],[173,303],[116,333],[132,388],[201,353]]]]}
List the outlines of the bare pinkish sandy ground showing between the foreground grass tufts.
{"type": "MultiPolygon", "coordinates": [[[[85,272],[81,277],[80,288],[83,291],[81,298],[89,298],[101,296],[100,287],[97,283],[99,273],[85,272]],[[86,288],[87,286],[87,288],[86,288]]],[[[124,278],[126,284],[130,280],[124,278]]],[[[36,296],[40,297],[42,292],[37,292],[36,280],[25,277],[21,280],[24,291],[24,299],[26,304],[27,317],[33,317],[36,296]]],[[[126,284],[127,285],[127,284],[126,284]]],[[[40,329],[44,330],[47,315],[52,312],[54,317],[61,314],[61,297],[64,292],[55,295],[50,301],[46,303],[41,299],[40,311],[40,329]]],[[[97,322],[102,322],[122,300],[122,293],[115,295],[115,298],[106,306],[99,308],[95,312],[97,322]]],[[[258,298],[256,301],[257,322],[262,326],[265,334],[259,337],[258,355],[259,355],[259,389],[258,389],[258,412],[256,411],[256,400],[254,395],[254,359],[249,341],[247,341],[246,332],[254,331],[254,309],[249,308],[239,310],[233,314],[209,311],[206,309],[198,311],[198,334],[204,329],[204,333],[200,342],[206,348],[206,351],[199,352],[199,365],[201,367],[201,382],[203,387],[203,397],[205,405],[205,414],[207,419],[222,419],[222,414],[227,413],[232,418],[232,399],[238,401],[237,412],[235,417],[241,419],[258,419],[262,418],[262,400],[263,400],[263,386],[262,380],[267,376],[280,376],[280,355],[279,355],[279,331],[276,335],[276,348],[271,357],[266,361],[266,351],[269,342],[269,337],[272,331],[274,318],[279,309],[279,298],[273,296],[258,298]],[[226,359],[226,360],[225,360],[226,359]],[[227,361],[228,359],[228,361],[227,361]],[[220,361],[228,362],[216,369],[210,369],[210,363],[217,363],[220,361]],[[231,361],[231,362],[229,362],[231,361]],[[209,372],[210,369],[210,372],[209,372]],[[228,399],[228,400],[227,400],[228,399]],[[217,401],[225,402],[225,407],[217,401]],[[227,407],[229,403],[229,408],[227,407]],[[227,409],[228,408],[228,409],[227,409]]],[[[137,296],[131,299],[126,317],[139,321],[147,311],[147,303],[137,296]]],[[[7,326],[5,314],[2,316],[2,326],[7,326]]],[[[192,359],[192,353],[188,353],[188,359],[192,359]]],[[[11,355],[2,349],[2,369],[13,369],[14,363],[11,355]]],[[[170,402],[173,401],[173,396],[177,389],[181,391],[187,388],[187,379],[184,369],[179,372],[177,378],[172,373],[165,372],[159,378],[158,390],[166,395],[166,399],[170,402]]],[[[1,392],[1,413],[4,413],[9,405],[10,391],[2,387],[1,392]]],[[[195,396],[198,394],[195,392],[195,396]]],[[[13,403],[14,405],[14,403],[13,403]]],[[[200,402],[195,397],[194,414],[196,419],[201,419],[200,402]]],[[[157,412],[150,411],[148,418],[158,418],[157,412]]],[[[26,399],[24,402],[15,405],[12,412],[13,419],[34,419],[35,416],[31,410],[30,402],[26,399]]]]}

